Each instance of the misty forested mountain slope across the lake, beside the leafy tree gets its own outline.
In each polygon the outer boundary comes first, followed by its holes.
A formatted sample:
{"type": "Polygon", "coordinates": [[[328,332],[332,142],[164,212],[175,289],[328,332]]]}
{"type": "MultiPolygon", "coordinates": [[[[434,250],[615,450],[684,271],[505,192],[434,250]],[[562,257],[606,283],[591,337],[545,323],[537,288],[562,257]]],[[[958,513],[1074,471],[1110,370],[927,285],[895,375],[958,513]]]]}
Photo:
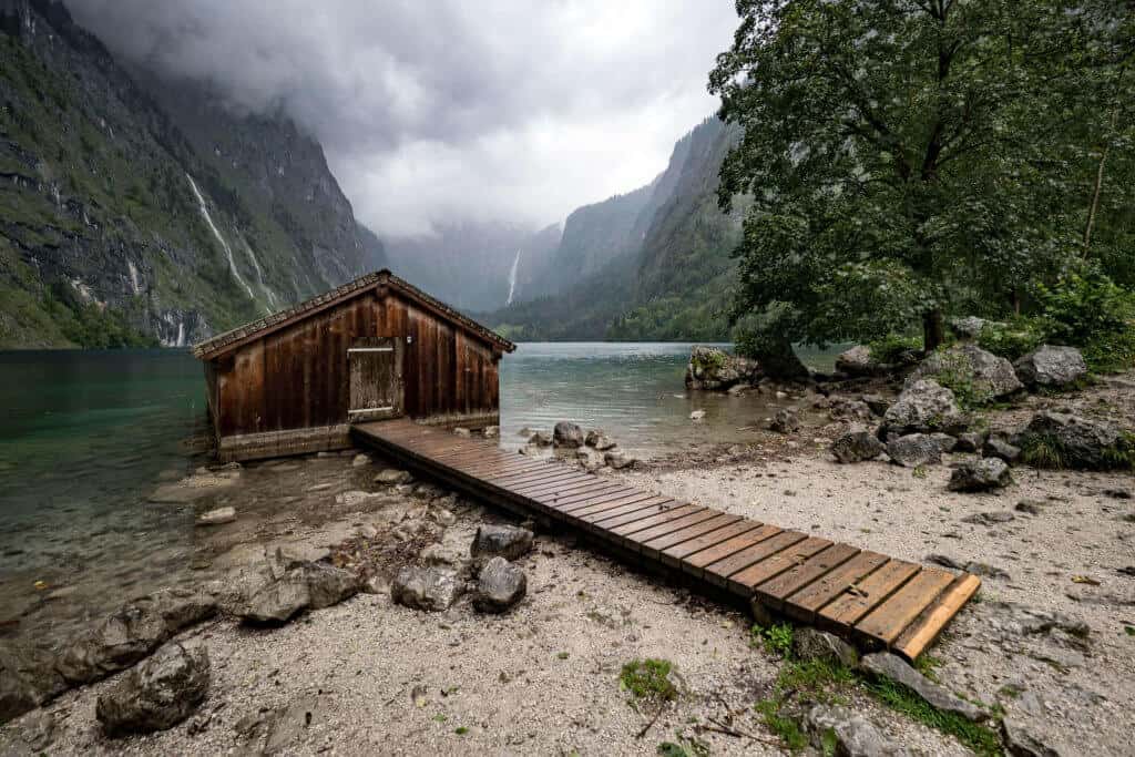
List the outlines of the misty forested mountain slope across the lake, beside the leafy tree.
{"type": "Polygon", "coordinates": [[[674,145],[649,185],[588,205],[556,271],[586,271],[560,289],[485,316],[516,339],[724,339],[725,308],[748,207],[717,207],[717,173],[739,134],[707,118],[674,145]],[[628,200],[633,197],[633,200],[628,200]],[[585,241],[580,243],[579,241],[585,241]]]}

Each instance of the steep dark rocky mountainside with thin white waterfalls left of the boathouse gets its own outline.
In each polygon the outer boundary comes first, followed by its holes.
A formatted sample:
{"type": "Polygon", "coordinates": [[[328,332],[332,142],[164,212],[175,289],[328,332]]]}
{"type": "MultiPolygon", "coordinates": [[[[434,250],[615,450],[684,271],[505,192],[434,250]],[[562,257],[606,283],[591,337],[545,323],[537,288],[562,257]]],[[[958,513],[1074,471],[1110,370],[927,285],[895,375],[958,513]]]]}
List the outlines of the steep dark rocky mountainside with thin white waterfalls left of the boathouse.
{"type": "Polygon", "coordinates": [[[7,347],[184,346],[381,250],[287,118],[132,75],[51,0],[0,0],[0,208],[7,347]]]}

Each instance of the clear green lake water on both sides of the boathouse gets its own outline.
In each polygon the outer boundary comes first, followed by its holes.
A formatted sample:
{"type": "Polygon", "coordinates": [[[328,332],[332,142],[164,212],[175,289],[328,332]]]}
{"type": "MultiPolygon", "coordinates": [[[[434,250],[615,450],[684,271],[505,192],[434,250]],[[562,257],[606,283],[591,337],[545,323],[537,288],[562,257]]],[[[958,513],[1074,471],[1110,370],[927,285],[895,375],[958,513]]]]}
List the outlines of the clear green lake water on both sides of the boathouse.
{"type": "MultiPolygon", "coordinates": [[[[561,420],[639,456],[745,440],[760,397],[687,394],[690,347],[520,345],[502,362],[502,445],[561,420]],[[691,423],[698,409],[706,420],[691,423]]],[[[833,354],[801,356],[825,370],[833,354]]],[[[190,582],[193,508],[148,499],[209,462],[201,364],[171,350],[8,352],[0,377],[0,633],[58,632],[190,582]]]]}

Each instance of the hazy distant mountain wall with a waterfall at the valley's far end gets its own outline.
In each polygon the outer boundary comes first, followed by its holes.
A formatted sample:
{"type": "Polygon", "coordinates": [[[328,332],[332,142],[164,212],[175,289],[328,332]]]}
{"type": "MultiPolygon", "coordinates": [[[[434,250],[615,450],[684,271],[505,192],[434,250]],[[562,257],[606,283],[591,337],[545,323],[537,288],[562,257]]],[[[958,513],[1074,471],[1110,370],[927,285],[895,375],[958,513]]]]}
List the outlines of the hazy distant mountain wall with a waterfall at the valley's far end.
{"type": "Polygon", "coordinates": [[[507,222],[437,224],[432,234],[385,237],[390,268],[462,310],[501,308],[547,269],[558,226],[539,232],[507,222]]]}

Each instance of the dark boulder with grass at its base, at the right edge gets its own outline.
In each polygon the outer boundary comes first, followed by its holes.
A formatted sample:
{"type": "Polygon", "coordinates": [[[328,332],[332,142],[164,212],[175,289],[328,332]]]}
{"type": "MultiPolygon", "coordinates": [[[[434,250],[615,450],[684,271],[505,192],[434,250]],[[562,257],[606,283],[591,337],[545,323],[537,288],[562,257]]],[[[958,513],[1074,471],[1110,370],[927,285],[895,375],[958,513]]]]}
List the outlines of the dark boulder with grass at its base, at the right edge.
{"type": "Polygon", "coordinates": [[[1053,411],[1033,415],[1012,443],[1026,462],[1041,468],[1129,468],[1135,452],[1113,423],[1053,411]]]}

